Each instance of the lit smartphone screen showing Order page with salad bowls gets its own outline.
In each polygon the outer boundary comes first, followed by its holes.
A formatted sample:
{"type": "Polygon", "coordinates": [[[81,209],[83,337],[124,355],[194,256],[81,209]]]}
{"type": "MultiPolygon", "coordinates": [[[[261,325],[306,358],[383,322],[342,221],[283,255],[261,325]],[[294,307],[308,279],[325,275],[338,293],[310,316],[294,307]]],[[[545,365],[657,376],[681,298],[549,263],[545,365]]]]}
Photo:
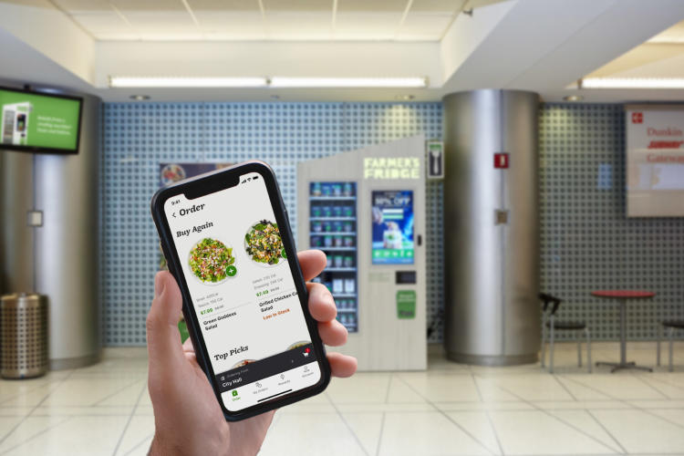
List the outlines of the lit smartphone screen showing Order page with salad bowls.
{"type": "Polygon", "coordinates": [[[263,176],[174,196],[164,212],[225,408],[315,385],[321,373],[263,176]]]}

